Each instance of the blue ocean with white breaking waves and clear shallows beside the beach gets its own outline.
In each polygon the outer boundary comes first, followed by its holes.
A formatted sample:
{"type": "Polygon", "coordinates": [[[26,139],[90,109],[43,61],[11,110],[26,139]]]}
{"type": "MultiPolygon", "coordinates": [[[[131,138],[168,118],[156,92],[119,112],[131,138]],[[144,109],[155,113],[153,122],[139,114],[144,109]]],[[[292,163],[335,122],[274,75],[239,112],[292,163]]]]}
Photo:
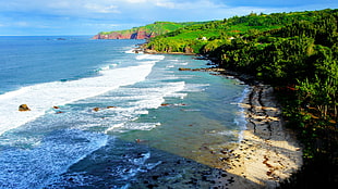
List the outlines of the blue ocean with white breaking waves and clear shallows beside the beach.
{"type": "Polygon", "coordinates": [[[0,37],[0,188],[217,185],[248,87],[179,71],[206,60],[133,53],[143,42],[0,37]]]}

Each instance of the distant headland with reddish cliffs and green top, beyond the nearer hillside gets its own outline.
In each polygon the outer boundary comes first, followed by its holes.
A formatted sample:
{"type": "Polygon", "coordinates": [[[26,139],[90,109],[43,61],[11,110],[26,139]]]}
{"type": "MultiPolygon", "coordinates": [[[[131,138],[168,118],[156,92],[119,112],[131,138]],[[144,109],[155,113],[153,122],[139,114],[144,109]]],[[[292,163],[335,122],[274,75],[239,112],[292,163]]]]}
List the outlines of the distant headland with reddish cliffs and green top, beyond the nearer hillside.
{"type": "Polygon", "coordinates": [[[93,37],[93,39],[148,39],[162,34],[167,34],[179,28],[201,24],[202,22],[155,22],[146,26],[134,27],[126,30],[101,32],[93,37]]]}

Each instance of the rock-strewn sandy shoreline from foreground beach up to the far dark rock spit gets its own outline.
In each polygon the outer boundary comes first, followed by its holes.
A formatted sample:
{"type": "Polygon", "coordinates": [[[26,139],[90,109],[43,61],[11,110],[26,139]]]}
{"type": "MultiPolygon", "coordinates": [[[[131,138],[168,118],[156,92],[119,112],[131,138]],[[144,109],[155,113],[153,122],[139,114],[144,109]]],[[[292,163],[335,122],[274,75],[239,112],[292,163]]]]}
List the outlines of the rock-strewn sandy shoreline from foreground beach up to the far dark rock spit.
{"type": "MultiPolygon", "coordinates": [[[[215,184],[212,188],[274,189],[301,167],[301,146],[292,130],[285,127],[273,87],[259,84],[251,76],[220,68],[179,71],[216,72],[250,85],[246,98],[239,104],[246,119],[242,140],[224,146],[219,151],[210,150],[218,159],[209,165],[216,168],[209,175],[215,184]]],[[[155,173],[161,175],[161,172],[155,173]]]]}

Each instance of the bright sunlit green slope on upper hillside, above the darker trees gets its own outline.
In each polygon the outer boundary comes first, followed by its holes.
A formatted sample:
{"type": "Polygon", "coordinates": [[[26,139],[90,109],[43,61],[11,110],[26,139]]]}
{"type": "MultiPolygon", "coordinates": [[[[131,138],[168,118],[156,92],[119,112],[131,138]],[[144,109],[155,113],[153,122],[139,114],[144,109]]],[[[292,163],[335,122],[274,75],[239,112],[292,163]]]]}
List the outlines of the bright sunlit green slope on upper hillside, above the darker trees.
{"type": "MultiPolygon", "coordinates": [[[[207,45],[208,42],[206,41],[196,40],[202,37],[206,37],[208,41],[213,41],[214,39],[228,39],[233,36],[268,32],[281,28],[297,21],[313,21],[315,17],[313,17],[312,14],[313,12],[274,13],[269,15],[257,15],[252,13],[248,16],[234,16],[224,21],[186,25],[185,27],[181,27],[153,39],[148,48],[160,52],[165,52],[168,49],[170,49],[171,52],[180,52],[183,51],[186,46],[201,48],[207,45]],[[162,40],[162,42],[159,42],[160,40],[162,40]],[[170,45],[166,43],[166,41],[170,41],[174,47],[170,48],[170,45]]],[[[194,49],[194,52],[202,53],[202,49],[194,49]]]]}

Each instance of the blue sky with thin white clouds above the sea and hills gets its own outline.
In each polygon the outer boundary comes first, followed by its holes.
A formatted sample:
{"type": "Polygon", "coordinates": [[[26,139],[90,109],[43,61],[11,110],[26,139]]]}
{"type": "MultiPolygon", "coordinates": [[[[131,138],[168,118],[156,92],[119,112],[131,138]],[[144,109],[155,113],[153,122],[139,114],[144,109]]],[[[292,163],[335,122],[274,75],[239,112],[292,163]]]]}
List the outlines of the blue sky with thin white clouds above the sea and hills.
{"type": "Polygon", "coordinates": [[[0,36],[95,35],[156,21],[337,8],[337,0],[1,0],[0,36]]]}

